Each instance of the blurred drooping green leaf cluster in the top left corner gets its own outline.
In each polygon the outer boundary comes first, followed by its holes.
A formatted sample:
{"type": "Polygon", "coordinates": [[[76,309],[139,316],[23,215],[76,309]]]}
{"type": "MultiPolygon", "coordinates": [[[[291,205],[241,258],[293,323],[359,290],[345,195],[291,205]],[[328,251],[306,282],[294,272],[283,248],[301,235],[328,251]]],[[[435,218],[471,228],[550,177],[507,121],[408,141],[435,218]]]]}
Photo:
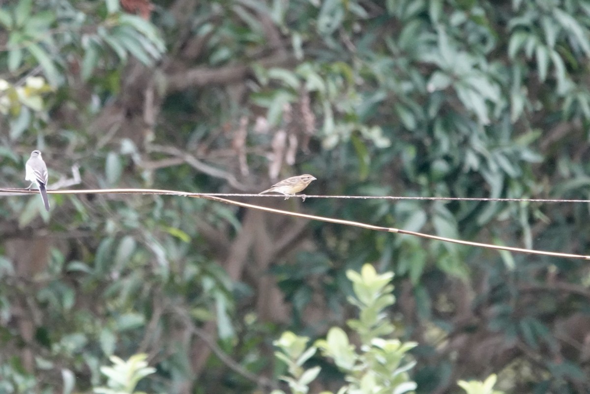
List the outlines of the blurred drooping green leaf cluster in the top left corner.
{"type": "Polygon", "coordinates": [[[56,87],[64,83],[60,68],[65,68],[66,59],[60,53],[70,45],[84,51],[80,67],[84,79],[91,76],[97,63],[109,61],[109,57],[103,57],[106,50],[116,54],[123,63],[131,54],[149,65],[165,49],[153,25],[120,12],[118,1],[107,1],[106,10],[97,9],[96,14],[76,9],[65,1],[58,3],[60,8],[55,9],[51,2],[38,2],[33,7],[32,0],[22,0],[0,10],[0,23],[9,32],[6,40],[9,71],[21,73],[27,64],[38,63],[51,86],[56,87]],[[96,19],[89,21],[91,18],[96,19]],[[96,32],[89,34],[83,29],[90,24],[96,32]]]}

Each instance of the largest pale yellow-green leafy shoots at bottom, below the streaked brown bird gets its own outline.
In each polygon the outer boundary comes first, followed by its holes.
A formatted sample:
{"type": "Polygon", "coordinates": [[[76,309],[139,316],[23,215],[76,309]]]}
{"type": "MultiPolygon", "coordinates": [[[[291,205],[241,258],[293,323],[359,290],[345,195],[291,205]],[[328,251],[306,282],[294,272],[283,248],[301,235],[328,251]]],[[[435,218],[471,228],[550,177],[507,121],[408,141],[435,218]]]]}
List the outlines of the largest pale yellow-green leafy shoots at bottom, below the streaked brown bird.
{"type": "MultiPolygon", "coordinates": [[[[304,364],[320,349],[323,356],[332,359],[345,373],[344,380],[348,384],[337,390],[339,394],[402,394],[414,390],[416,384],[409,379],[407,371],[414,367],[415,362],[401,363],[407,357],[405,353],[417,344],[385,338],[394,328],[385,313],[385,309],[394,304],[393,287],[388,284],[393,277],[392,272],[378,275],[372,265],[365,264],[360,273],[348,270],[346,275],[353,283],[356,297],[351,297],[349,301],[359,308],[359,319],[348,321],[350,329],[359,336],[359,350],[350,343],[348,334],[340,327],[330,328],[326,339],[317,340],[314,346],[307,348],[309,338],[287,331],[274,342],[280,349],[275,354],[286,363],[289,372],[289,376],[281,379],[289,384],[293,394],[309,392],[309,383],[316,379],[321,368],[305,369],[304,364]]],[[[283,392],[273,392],[280,393],[283,392]]]]}

